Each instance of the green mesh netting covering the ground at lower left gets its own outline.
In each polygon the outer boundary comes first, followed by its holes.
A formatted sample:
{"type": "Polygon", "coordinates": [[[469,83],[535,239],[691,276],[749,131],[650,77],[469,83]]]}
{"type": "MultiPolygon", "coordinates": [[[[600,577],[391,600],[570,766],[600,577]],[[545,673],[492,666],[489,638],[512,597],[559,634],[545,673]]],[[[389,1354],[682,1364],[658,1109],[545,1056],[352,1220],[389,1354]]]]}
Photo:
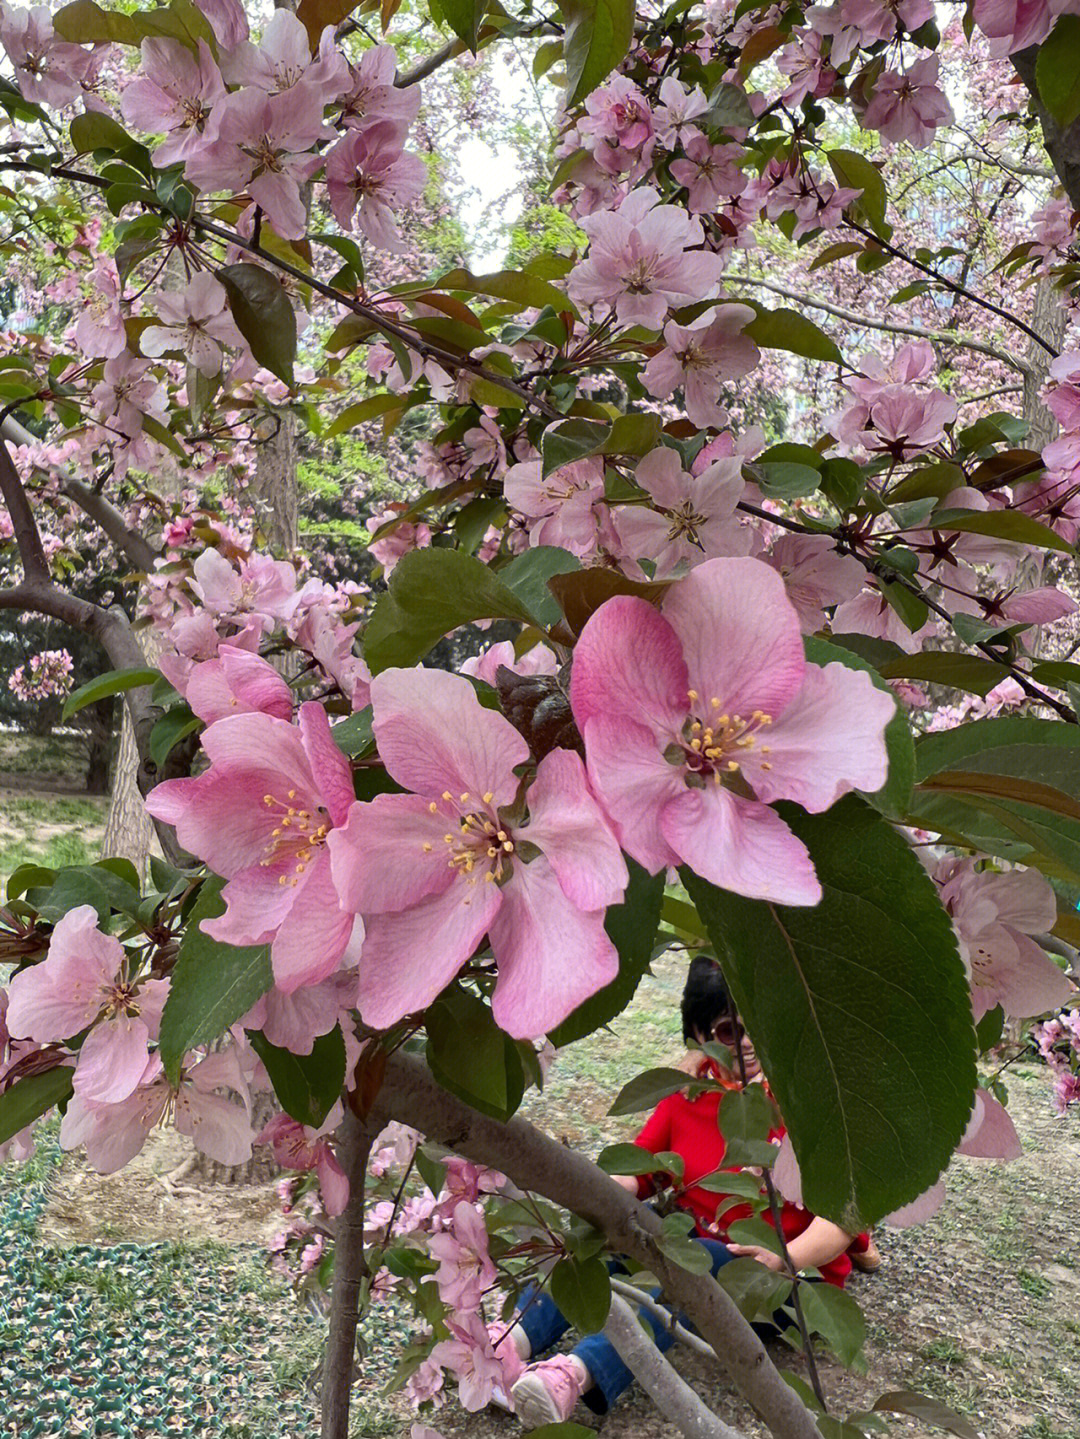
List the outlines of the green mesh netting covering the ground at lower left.
{"type": "Polygon", "coordinates": [[[43,1242],[45,1145],[33,1177],[0,1173],[0,1435],[314,1436],[322,1325],[275,1292],[263,1252],[43,1242]]]}

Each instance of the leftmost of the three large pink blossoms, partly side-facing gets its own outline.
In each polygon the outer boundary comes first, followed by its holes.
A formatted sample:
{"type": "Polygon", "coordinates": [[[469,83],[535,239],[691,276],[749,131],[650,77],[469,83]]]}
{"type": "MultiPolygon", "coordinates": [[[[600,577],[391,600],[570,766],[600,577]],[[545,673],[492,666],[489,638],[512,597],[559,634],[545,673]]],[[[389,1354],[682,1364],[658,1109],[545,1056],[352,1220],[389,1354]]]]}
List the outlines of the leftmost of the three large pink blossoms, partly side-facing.
{"type": "Polygon", "coordinates": [[[210,768],[167,780],[147,799],[150,813],[229,881],[226,912],[203,930],[226,944],[269,944],[286,994],[316,984],[338,968],[354,928],[326,849],[352,802],[352,776],[326,711],[308,701],[298,725],[266,714],[219,720],[203,750],[210,768]]]}

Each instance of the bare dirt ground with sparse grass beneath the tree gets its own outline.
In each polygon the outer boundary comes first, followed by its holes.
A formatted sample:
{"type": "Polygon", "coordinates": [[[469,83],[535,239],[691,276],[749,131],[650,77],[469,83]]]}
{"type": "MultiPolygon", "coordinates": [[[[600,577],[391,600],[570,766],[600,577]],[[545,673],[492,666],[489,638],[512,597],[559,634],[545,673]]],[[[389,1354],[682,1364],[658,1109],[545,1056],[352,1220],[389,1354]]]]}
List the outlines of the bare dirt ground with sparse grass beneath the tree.
{"type": "MultiPolygon", "coordinates": [[[[633,1132],[633,1120],[610,1120],[605,1111],[630,1075],[677,1053],[682,973],[680,961],[660,961],[614,1035],[559,1058],[545,1099],[531,1102],[536,1117],[544,1105],[554,1134],[595,1153],[633,1132]]],[[[851,1374],[828,1357],[821,1360],[837,1416],[870,1407],[887,1390],[915,1389],[959,1410],[985,1439],[1080,1439],[1080,1114],[1054,1114],[1045,1073],[1035,1066],[1014,1066],[1010,1092],[1024,1156],[1008,1166],[958,1161],[942,1213],[919,1229],[882,1230],[882,1269],[853,1279],[869,1325],[867,1373],[851,1374]]],[[[165,1134],[115,1176],[96,1176],[76,1157],[66,1160],[42,1238],[237,1245],[263,1240],[275,1229],[272,1184],[207,1187],[180,1179],[170,1187],[168,1174],[186,1154],[186,1141],[165,1134]]],[[[408,1435],[416,1416],[400,1397],[390,1403],[378,1397],[393,1348],[406,1334],[404,1315],[375,1317],[357,1392],[355,1439],[408,1435]]],[[[774,1357],[805,1374],[804,1361],[784,1345],[774,1357]]],[[[677,1363],[725,1419],[746,1435],[764,1433],[719,1370],[693,1354],[680,1354],[677,1363]]],[[[447,1439],[511,1439],[521,1432],[509,1416],[467,1415],[453,1399],[423,1417],[447,1439]]],[[[640,1393],[603,1422],[584,1409],[575,1417],[604,1439],[676,1439],[640,1393]]],[[[894,1420],[893,1432],[920,1439],[935,1433],[906,1419],[894,1420]]]]}

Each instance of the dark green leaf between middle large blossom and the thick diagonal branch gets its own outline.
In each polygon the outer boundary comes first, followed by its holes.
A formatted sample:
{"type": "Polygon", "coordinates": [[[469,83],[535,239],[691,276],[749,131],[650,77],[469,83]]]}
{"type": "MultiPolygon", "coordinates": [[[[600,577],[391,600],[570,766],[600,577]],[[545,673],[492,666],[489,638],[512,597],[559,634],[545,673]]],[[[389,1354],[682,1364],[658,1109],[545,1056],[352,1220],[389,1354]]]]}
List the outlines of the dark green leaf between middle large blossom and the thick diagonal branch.
{"type": "Polygon", "coordinates": [[[427,1063],[439,1084],[482,1114],[509,1120],[525,1094],[518,1048],[488,1004],[450,984],[427,1010],[427,1063]]]}

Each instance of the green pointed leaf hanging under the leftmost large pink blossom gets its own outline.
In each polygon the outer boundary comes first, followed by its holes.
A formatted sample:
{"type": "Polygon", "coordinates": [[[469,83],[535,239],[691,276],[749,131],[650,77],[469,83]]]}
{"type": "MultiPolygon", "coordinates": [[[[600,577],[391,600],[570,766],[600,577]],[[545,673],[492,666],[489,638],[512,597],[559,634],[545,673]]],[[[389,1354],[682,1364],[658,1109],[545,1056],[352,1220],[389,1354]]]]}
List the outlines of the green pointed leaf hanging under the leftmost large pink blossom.
{"type": "Polygon", "coordinates": [[[247,1013],[273,984],[270,947],[237,948],[213,940],[203,920],[224,914],[224,879],[211,875],[187,920],[173,968],[173,984],[161,1013],[161,1063],[170,1084],[180,1079],[188,1049],[209,1045],[247,1013]]]}

